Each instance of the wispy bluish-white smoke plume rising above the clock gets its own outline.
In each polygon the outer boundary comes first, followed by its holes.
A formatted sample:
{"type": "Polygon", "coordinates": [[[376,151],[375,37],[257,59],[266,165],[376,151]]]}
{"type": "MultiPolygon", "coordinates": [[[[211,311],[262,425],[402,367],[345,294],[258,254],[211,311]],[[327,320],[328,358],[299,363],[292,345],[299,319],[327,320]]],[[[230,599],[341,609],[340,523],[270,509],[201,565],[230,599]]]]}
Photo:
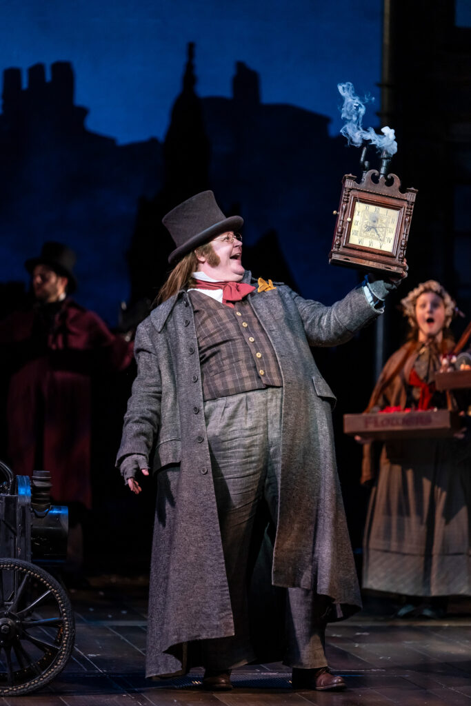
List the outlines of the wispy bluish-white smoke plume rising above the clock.
{"type": "Polygon", "coordinates": [[[369,98],[362,101],[354,92],[353,84],[338,83],[337,88],[343,97],[342,118],[346,121],[340,132],[348,140],[349,145],[361,147],[364,140],[369,140],[371,145],[375,145],[378,152],[383,152],[383,156],[392,157],[398,151],[398,143],[395,141],[393,128],[381,128],[383,135],[378,135],[373,128],[364,130],[362,119],[366,110],[365,103],[369,98]]]}

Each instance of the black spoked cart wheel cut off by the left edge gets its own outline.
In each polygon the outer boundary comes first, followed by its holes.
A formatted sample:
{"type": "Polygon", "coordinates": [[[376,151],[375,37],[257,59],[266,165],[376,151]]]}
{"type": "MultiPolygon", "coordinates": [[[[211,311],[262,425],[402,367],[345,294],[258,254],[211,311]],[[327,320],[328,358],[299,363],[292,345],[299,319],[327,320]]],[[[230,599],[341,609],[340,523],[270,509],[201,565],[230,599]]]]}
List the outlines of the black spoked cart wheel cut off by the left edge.
{"type": "Polygon", "coordinates": [[[0,695],[27,694],[60,674],[75,626],[68,595],[47,571],[0,559],[0,695]]]}

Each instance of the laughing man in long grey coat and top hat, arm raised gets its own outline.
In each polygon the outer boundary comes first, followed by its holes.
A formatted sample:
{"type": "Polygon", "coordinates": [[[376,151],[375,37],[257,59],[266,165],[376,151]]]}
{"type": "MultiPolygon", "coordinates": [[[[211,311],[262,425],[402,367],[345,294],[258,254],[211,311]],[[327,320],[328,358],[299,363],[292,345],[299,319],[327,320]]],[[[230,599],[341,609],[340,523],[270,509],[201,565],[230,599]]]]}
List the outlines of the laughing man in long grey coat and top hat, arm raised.
{"type": "Polygon", "coordinates": [[[225,690],[232,668],[283,659],[294,688],[341,689],[326,662],[326,623],[361,600],[335,467],[335,397],[311,347],[349,340],[395,284],[365,283],[323,306],[253,280],[242,218],[226,218],[211,191],[163,223],[174,268],[136,333],[117,458],[134,493],[141,473],[157,472],[147,676],[202,665],[205,688],[225,690]],[[285,616],[268,615],[260,634],[254,618],[273,597],[285,616]]]}

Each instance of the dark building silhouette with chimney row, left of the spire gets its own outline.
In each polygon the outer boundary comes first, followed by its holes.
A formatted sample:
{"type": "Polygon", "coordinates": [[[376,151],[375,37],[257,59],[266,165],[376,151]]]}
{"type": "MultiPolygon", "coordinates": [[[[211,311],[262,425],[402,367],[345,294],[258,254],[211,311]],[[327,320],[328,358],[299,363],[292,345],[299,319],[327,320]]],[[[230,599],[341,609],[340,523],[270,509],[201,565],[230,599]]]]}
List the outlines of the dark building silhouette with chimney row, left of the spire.
{"type": "Polygon", "coordinates": [[[88,130],[73,100],[71,64],[4,72],[0,115],[0,280],[24,277],[25,256],[46,240],[78,251],[78,299],[116,323],[129,296],[124,251],[138,198],[162,184],[162,145],[117,145],[88,130]],[[12,270],[13,267],[13,270],[12,270]],[[16,269],[15,269],[16,268],[16,269]]]}

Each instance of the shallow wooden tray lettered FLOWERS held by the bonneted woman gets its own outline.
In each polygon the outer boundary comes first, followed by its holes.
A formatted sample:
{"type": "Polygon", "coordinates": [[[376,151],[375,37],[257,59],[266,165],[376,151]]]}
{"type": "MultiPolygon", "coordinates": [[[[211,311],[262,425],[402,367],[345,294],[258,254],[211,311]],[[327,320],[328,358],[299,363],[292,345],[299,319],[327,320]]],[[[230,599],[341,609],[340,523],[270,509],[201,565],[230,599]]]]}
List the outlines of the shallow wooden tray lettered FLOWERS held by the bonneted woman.
{"type": "Polygon", "coordinates": [[[427,412],[369,412],[344,414],[343,431],[372,439],[453,436],[461,428],[457,412],[431,409],[427,412]]]}

